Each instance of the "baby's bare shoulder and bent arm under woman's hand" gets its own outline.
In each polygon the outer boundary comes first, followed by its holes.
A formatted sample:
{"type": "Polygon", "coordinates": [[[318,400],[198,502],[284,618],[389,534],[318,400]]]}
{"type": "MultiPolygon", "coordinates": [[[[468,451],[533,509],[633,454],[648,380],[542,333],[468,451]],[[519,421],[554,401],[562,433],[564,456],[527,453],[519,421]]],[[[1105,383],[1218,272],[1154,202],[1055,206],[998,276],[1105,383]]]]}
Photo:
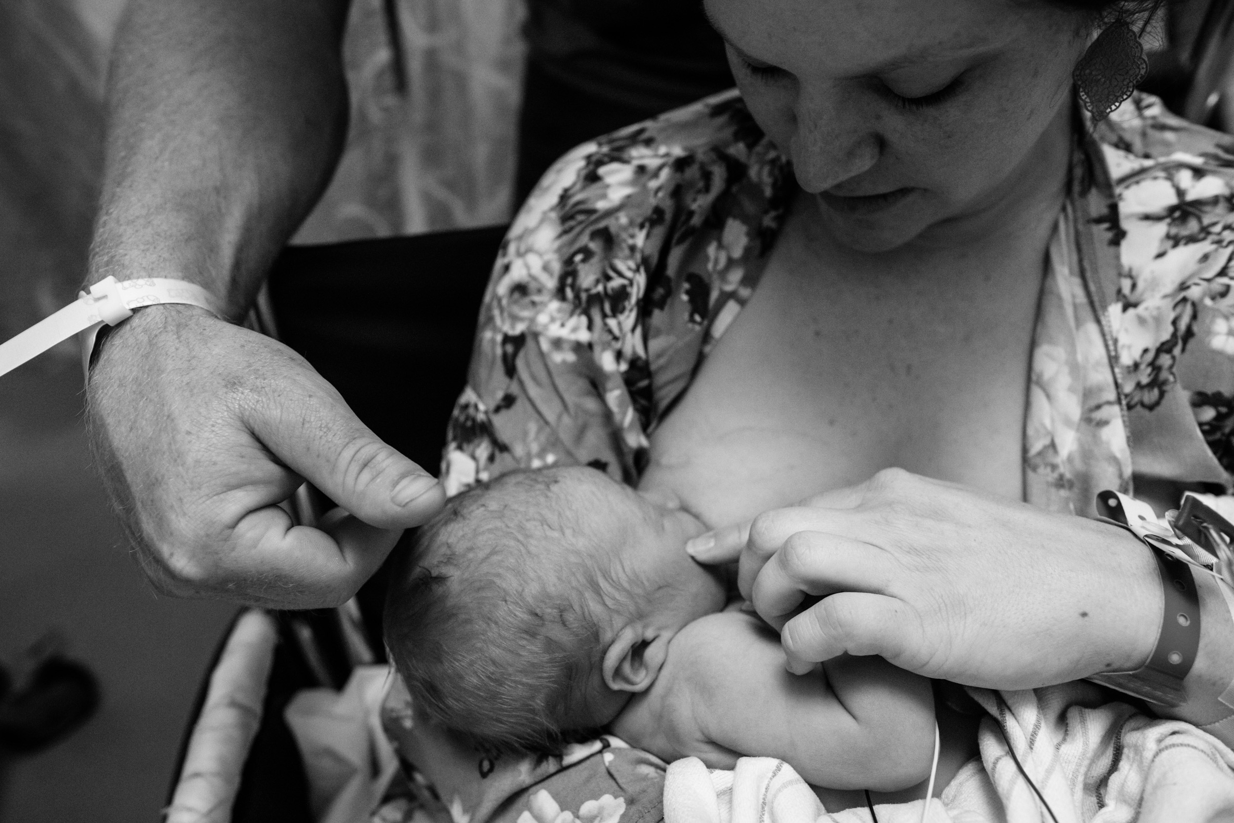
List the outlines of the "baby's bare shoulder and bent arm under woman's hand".
{"type": "MultiPolygon", "coordinates": [[[[929,776],[928,680],[875,656],[789,674],[779,637],[750,614],[710,614],[684,628],[645,698],[658,717],[640,726],[691,729],[676,740],[655,735],[652,751],[668,759],[695,755],[731,769],[739,755],[780,758],[828,788],[895,791],[929,776]],[[666,691],[656,695],[661,680],[666,691]]],[[[636,703],[627,711],[644,709],[636,703]]]]}

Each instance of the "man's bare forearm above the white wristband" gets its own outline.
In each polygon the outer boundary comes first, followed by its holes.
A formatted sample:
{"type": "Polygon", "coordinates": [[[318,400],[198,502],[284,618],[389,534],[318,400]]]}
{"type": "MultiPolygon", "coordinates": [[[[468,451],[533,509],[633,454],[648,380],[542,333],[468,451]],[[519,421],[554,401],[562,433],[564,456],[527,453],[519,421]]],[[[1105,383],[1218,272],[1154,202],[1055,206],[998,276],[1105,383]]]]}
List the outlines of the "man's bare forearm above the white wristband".
{"type": "Polygon", "coordinates": [[[89,281],[193,280],[238,316],[333,170],[348,0],[132,0],[89,281]]]}

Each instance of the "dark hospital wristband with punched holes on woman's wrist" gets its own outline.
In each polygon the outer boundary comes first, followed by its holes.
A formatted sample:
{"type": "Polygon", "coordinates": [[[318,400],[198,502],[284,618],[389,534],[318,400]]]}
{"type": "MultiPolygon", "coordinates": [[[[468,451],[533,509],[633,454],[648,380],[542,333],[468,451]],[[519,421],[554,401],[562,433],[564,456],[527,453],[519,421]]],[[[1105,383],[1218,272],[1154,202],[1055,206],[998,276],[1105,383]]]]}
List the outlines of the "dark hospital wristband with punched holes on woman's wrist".
{"type": "Polygon", "coordinates": [[[1199,593],[1191,563],[1182,559],[1188,553],[1180,545],[1187,538],[1180,538],[1149,506],[1127,495],[1103,491],[1097,501],[1104,515],[1102,519],[1122,526],[1153,552],[1161,574],[1165,607],[1156,648],[1143,669],[1104,672],[1088,680],[1151,703],[1182,706],[1187,702],[1183,680],[1199,650],[1199,593]]]}

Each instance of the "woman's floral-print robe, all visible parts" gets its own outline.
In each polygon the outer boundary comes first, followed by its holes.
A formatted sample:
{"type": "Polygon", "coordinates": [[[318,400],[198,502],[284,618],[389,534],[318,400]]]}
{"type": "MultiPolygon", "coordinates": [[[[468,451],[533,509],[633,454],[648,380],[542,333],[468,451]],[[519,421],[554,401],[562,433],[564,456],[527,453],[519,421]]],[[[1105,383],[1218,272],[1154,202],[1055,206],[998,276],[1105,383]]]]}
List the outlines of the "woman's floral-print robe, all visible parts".
{"type": "MultiPolygon", "coordinates": [[[[1091,516],[1097,491],[1133,479],[1229,489],[1230,148],[1146,95],[1077,138],[1034,332],[1029,502],[1091,516]]],[[[735,91],[563,157],[494,269],[449,424],[448,494],[553,464],[637,482],[649,433],[758,287],[795,192],[735,91]]],[[[560,769],[492,766],[505,777],[486,776],[491,791],[455,821],[512,819],[531,792],[500,801],[533,785],[587,795],[560,769]]],[[[613,791],[602,771],[596,797],[613,791]]],[[[658,813],[658,796],[623,802],[658,813]]]]}

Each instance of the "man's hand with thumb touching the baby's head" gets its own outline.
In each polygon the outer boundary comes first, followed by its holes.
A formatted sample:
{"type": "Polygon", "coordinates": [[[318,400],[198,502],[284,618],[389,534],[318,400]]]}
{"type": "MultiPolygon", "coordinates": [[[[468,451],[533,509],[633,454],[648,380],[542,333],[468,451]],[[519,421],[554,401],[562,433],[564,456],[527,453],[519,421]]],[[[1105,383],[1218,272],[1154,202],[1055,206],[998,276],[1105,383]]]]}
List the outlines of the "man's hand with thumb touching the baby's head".
{"type": "Polygon", "coordinates": [[[118,327],[88,407],[107,489],[168,593],[341,603],[444,501],[304,358],[197,308],[147,308],[118,327]],[[279,506],[305,480],[341,506],[320,531],[279,506]]]}

